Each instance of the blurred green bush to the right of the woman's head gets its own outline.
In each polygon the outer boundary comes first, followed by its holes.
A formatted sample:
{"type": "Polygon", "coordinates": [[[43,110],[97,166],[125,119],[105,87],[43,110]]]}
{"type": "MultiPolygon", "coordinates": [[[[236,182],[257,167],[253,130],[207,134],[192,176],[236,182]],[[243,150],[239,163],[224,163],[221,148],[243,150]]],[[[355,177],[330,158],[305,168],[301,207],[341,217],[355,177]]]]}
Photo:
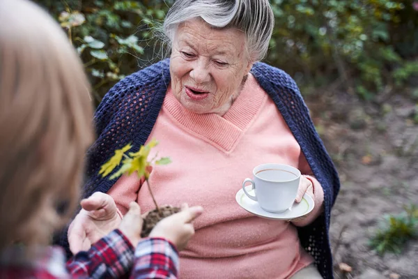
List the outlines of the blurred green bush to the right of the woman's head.
{"type": "Polygon", "coordinates": [[[394,68],[418,54],[418,12],[412,4],[273,0],[276,27],[268,60],[298,77],[297,82],[323,85],[341,78],[371,98],[394,78],[401,85],[416,74],[417,68],[393,76],[394,68]]]}

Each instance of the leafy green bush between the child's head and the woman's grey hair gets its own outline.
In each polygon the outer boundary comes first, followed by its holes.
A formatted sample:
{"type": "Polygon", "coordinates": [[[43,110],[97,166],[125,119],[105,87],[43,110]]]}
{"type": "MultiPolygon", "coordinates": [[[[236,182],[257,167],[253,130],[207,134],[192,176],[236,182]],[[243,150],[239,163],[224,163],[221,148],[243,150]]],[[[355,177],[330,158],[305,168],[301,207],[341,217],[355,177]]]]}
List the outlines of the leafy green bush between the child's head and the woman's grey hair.
{"type": "Polygon", "coordinates": [[[150,28],[172,1],[38,0],[68,33],[84,61],[96,104],[111,86],[155,58],[150,28]],[[150,47],[152,46],[152,47],[150,47]]]}

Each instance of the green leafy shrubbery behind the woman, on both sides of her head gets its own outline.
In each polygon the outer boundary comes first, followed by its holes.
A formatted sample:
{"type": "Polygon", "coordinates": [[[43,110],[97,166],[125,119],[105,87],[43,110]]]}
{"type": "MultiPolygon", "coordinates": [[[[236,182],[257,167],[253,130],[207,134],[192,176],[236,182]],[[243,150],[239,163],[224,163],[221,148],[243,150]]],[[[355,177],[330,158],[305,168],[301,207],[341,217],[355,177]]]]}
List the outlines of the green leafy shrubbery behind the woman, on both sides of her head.
{"type": "MultiPolygon", "coordinates": [[[[161,59],[150,31],[173,0],[37,0],[68,33],[96,103],[125,75],[161,59]]],[[[272,0],[276,18],[265,59],[307,94],[343,86],[372,100],[386,86],[417,86],[418,1],[272,0]]],[[[418,97],[418,91],[410,91],[418,97]]]]}

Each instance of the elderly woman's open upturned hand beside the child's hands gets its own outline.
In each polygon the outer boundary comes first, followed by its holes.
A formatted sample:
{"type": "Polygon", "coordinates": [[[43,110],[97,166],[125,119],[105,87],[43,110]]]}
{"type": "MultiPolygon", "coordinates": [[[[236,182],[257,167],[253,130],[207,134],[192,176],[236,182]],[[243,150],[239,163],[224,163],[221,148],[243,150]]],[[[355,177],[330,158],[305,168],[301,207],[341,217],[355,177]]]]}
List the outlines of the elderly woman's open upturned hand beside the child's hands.
{"type": "Polygon", "coordinates": [[[96,192],[83,199],[81,205],[82,210],[68,228],[68,243],[73,254],[90,249],[93,243],[121,224],[121,217],[110,195],[96,192]]]}

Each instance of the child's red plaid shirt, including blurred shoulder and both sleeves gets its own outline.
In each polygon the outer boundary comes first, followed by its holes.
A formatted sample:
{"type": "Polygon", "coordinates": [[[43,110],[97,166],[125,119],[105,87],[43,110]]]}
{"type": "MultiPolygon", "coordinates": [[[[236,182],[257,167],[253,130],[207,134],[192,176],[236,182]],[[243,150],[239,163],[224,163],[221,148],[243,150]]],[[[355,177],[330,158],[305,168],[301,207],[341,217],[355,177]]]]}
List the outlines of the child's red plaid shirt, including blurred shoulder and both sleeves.
{"type": "Polygon", "coordinates": [[[134,250],[121,231],[114,230],[88,251],[65,264],[61,248],[37,248],[29,260],[16,246],[0,255],[0,278],[177,278],[178,252],[165,239],[148,238],[134,250]],[[129,272],[132,271],[130,274],[129,272]]]}

